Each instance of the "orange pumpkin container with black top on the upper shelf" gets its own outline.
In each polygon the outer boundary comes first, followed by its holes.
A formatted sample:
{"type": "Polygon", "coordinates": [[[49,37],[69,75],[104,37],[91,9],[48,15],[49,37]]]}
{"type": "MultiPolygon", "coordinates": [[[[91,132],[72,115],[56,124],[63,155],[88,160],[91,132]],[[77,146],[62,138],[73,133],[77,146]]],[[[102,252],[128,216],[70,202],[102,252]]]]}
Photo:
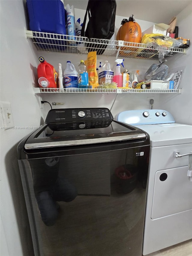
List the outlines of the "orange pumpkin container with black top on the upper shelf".
{"type": "MultiPolygon", "coordinates": [[[[129,20],[123,19],[121,22],[121,27],[117,32],[117,40],[123,40],[131,43],[140,43],[142,38],[142,32],[140,25],[135,22],[134,15],[129,17],[129,20]]],[[[126,46],[130,47],[121,47],[121,50],[126,51],[135,51],[137,48],[132,48],[134,44],[125,43],[126,46]]],[[[122,52],[120,52],[122,53],[122,52]]]]}

